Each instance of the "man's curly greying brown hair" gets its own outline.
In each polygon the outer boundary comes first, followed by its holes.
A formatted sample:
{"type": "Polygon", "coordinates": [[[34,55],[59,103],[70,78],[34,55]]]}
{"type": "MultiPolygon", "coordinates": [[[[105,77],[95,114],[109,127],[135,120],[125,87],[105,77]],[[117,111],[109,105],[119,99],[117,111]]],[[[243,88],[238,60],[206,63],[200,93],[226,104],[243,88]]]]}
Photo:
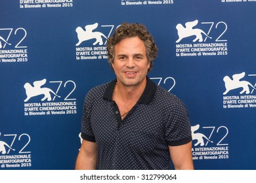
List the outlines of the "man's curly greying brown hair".
{"type": "Polygon", "coordinates": [[[111,63],[114,63],[115,58],[115,45],[128,37],[139,37],[139,39],[144,42],[144,45],[146,46],[146,57],[150,63],[148,72],[150,72],[154,64],[153,61],[158,56],[158,47],[156,46],[152,35],[150,35],[144,25],[138,23],[129,24],[127,22],[119,25],[114,32],[113,37],[109,37],[107,40],[106,49],[108,51],[108,62],[110,63],[111,69],[113,69],[111,63]]]}

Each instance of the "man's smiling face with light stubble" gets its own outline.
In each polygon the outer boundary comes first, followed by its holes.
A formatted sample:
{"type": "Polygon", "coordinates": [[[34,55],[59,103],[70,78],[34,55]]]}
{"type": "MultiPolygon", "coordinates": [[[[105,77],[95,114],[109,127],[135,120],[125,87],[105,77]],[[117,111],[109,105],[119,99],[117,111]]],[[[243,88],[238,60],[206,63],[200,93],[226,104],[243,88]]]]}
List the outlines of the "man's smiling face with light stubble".
{"type": "Polygon", "coordinates": [[[124,86],[137,86],[145,81],[150,63],[144,42],[139,37],[129,37],[116,44],[112,67],[117,82],[124,86]]]}

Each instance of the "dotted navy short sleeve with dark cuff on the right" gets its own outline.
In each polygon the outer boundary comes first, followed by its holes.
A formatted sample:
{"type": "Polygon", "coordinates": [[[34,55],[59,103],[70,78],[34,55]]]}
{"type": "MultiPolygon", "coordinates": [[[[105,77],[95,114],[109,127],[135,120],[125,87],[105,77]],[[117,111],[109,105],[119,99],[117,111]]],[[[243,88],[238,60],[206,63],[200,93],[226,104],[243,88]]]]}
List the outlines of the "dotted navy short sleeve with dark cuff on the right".
{"type": "Polygon", "coordinates": [[[188,110],[180,99],[175,101],[165,124],[165,140],[169,146],[179,146],[192,141],[188,110]]]}

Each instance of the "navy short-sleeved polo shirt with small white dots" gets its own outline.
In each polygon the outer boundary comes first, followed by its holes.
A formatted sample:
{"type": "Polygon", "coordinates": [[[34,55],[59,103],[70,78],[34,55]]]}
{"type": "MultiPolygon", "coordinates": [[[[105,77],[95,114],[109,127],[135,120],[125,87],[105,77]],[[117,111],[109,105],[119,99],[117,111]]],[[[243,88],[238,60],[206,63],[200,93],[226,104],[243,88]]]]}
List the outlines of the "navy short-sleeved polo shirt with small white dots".
{"type": "Polygon", "coordinates": [[[182,101],[148,79],[147,92],[121,120],[111,99],[114,84],[96,86],[85,97],[81,131],[97,144],[97,169],[171,169],[168,146],[192,140],[182,101]]]}

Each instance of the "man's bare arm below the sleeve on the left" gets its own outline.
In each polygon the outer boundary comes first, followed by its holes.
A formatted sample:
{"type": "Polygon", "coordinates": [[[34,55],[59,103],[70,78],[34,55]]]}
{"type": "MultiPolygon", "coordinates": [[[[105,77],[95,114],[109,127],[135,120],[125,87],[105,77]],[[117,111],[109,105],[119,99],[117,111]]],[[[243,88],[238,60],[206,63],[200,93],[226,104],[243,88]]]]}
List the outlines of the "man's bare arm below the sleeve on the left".
{"type": "Polygon", "coordinates": [[[97,162],[96,142],[83,140],[75,163],[76,170],[95,170],[97,162]]]}

